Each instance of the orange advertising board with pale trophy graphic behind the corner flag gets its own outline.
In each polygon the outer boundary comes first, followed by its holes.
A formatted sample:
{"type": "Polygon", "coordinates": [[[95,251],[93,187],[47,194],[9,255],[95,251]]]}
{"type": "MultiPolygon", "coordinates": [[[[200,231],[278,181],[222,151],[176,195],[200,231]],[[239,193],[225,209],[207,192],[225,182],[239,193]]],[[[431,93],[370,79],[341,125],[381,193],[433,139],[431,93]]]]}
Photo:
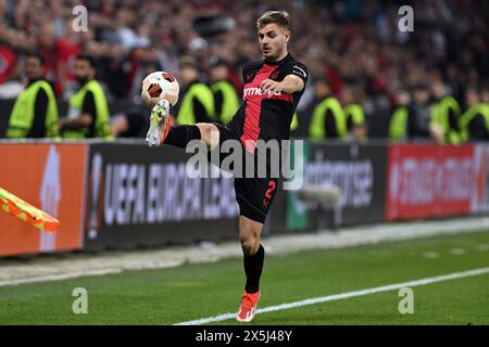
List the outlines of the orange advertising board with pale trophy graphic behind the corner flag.
{"type": "Polygon", "coordinates": [[[0,213],[0,256],[80,249],[86,144],[2,143],[0,187],[61,221],[53,233],[0,213]]]}

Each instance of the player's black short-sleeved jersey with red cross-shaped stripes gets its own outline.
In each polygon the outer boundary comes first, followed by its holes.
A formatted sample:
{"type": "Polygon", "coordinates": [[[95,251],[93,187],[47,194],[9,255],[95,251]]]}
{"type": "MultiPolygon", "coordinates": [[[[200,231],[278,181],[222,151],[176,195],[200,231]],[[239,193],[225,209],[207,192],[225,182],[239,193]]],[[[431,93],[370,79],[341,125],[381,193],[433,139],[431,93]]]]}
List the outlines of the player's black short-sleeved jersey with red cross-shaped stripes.
{"type": "Polygon", "coordinates": [[[264,79],[281,81],[287,75],[300,77],[305,87],[308,69],[290,54],[278,62],[260,60],[243,66],[243,102],[226,127],[238,136],[248,152],[254,152],[256,140],[290,138],[290,123],[304,88],[292,94],[280,92],[272,95],[263,94],[260,89],[264,79]]]}

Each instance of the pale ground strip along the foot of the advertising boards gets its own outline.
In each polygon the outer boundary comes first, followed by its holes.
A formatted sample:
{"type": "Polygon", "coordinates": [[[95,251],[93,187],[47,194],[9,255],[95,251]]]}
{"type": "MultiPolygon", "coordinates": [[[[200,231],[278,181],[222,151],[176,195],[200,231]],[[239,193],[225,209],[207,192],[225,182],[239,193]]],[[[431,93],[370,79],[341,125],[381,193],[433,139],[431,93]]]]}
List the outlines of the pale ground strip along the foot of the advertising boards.
{"type": "MultiPolygon", "coordinates": [[[[269,255],[284,255],[308,249],[337,249],[380,242],[400,242],[479,232],[488,229],[489,218],[452,218],[438,221],[385,223],[342,228],[339,232],[321,231],[304,234],[271,234],[265,241],[269,255]]],[[[488,250],[480,245],[480,252],[488,250]]],[[[59,259],[35,259],[29,262],[5,264],[0,258],[0,287],[25,283],[62,281],[88,275],[104,275],[146,269],[166,269],[183,264],[213,262],[224,258],[241,257],[239,242],[225,242],[214,247],[166,247],[158,250],[116,252],[91,256],[70,256],[59,259]]]]}

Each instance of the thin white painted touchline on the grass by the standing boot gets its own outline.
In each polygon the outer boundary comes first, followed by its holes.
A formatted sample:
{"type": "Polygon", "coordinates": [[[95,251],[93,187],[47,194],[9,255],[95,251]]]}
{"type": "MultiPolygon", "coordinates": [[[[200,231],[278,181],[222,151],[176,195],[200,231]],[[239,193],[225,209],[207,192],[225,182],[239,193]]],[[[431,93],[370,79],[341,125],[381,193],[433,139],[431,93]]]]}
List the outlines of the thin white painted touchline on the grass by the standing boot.
{"type": "MultiPolygon", "coordinates": [[[[400,290],[405,286],[409,286],[409,287],[421,286],[421,285],[443,282],[443,281],[450,281],[450,280],[456,280],[456,279],[463,279],[463,278],[486,274],[486,273],[489,273],[489,268],[480,268],[480,269],[474,269],[474,270],[468,270],[468,271],[463,271],[463,272],[454,272],[454,273],[438,275],[435,278],[426,278],[426,279],[421,279],[421,280],[415,280],[415,281],[410,281],[410,282],[404,282],[404,283],[387,284],[387,285],[377,286],[377,287],[367,288],[367,290],[321,296],[321,297],[315,297],[315,298],[300,300],[300,301],[280,304],[280,305],[276,305],[276,306],[268,306],[265,308],[258,309],[256,313],[287,310],[287,309],[296,308],[296,307],[302,307],[302,306],[315,305],[315,304],[321,304],[321,303],[326,303],[326,301],[347,299],[350,297],[364,296],[364,295],[368,295],[368,294],[400,290]]],[[[236,313],[225,313],[225,314],[220,314],[220,316],[215,316],[215,317],[201,318],[201,319],[196,319],[192,321],[180,322],[180,323],[176,323],[174,325],[200,325],[200,324],[227,321],[229,319],[234,319],[235,317],[236,317],[236,313]]]]}

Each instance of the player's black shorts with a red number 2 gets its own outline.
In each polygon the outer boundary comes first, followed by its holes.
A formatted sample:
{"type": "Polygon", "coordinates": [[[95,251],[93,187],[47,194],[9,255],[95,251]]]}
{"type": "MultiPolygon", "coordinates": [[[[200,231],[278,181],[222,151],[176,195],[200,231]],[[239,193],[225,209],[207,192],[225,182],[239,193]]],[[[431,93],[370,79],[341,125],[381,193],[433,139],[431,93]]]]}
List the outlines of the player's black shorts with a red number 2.
{"type": "MultiPolygon", "coordinates": [[[[220,146],[226,140],[237,140],[238,136],[221,124],[214,124],[220,130],[220,146]]],[[[241,146],[242,152],[246,156],[255,155],[250,154],[244,151],[241,146]]],[[[221,162],[229,154],[221,154],[221,162]]],[[[244,162],[243,162],[244,163],[244,162]]],[[[217,163],[213,163],[216,164],[217,163]]],[[[256,165],[254,166],[256,168],[256,165]]],[[[259,178],[256,172],[254,172],[253,178],[236,178],[235,177],[235,192],[236,201],[239,206],[239,214],[251,220],[264,223],[266,215],[268,214],[269,207],[274,201],[275,192],[277,190],[277,178],[259,178]]]]}

